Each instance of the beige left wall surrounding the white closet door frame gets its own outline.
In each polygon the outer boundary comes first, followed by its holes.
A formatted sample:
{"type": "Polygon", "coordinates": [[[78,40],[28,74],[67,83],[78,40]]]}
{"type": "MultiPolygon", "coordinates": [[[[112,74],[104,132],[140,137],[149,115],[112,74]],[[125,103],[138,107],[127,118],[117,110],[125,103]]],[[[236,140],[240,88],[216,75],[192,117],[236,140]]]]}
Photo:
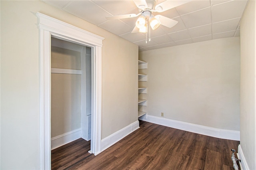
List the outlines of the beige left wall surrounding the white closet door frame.
{"type": "Polygon", "coordinates": [[[41,1],[1,1],[1,169],[40,168],[41,12],[104,37],[102,138],[138,114],[138,46],[41,1]]]}

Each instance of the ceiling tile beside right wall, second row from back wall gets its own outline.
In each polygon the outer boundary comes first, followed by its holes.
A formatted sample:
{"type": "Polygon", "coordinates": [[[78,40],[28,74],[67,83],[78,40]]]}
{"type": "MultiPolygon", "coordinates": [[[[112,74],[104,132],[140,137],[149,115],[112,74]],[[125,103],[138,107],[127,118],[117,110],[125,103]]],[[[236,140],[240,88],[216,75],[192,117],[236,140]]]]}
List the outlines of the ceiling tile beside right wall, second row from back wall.
{"type": "Polygon", "coordinates": [[[238,27],[240,18],[235,18],[232,20],[226,20],[222,22],[216,22],[212,24],[212,32],[213,34],[221,33],[221,32],[228,32],[236,30],[238,27]]]}

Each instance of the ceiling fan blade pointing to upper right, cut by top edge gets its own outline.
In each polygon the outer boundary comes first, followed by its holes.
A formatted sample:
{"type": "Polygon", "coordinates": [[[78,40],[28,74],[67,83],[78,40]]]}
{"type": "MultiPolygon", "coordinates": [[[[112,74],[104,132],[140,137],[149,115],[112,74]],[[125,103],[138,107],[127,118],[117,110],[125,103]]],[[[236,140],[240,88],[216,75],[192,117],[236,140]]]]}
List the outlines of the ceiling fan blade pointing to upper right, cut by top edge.
{"type": "Polygon", "coordinates": [[[164,12],[166,10],[170,10],[175,8],[176,6],[180,6],[182,4],[186,4],[191,0],[166,0],[160,4],[157,4],[155,7],[156,12],[164,12]]]}

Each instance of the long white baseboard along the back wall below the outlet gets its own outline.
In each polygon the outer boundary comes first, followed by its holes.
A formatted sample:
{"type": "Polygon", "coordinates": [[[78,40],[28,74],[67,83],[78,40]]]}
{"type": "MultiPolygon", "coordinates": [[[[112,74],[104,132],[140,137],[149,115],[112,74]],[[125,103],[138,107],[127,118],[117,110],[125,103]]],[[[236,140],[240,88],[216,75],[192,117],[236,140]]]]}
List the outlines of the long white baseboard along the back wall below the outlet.
{"type": "Polygon", "coordinates": [[[216,138],[240,140],[240,131],[236,131],[236,130],[226,130],[226,129],[206,127],[202,125],[175,121],[175,120],[151,116],[151,115],[145,115],[140,117],[139,119],[142,121],[155,123],[155,124],[163,125],[166,127],[177,128],[180,130],[185,130],[188,132],[194,132],[198,134],[204,134],[204,135],[212,136],[216,138]]]}

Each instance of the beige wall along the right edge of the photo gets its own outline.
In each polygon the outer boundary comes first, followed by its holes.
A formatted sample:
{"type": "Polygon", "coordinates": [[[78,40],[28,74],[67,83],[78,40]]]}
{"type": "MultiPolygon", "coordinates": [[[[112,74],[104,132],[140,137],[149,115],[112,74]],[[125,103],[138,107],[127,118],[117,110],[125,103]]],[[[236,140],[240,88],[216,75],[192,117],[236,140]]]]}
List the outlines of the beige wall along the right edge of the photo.
{"type": "Polygon", "coordinates": [[[241,21],[240,145],[251,170],[256,169],[256,2],[250,0],[241,21]]]}

